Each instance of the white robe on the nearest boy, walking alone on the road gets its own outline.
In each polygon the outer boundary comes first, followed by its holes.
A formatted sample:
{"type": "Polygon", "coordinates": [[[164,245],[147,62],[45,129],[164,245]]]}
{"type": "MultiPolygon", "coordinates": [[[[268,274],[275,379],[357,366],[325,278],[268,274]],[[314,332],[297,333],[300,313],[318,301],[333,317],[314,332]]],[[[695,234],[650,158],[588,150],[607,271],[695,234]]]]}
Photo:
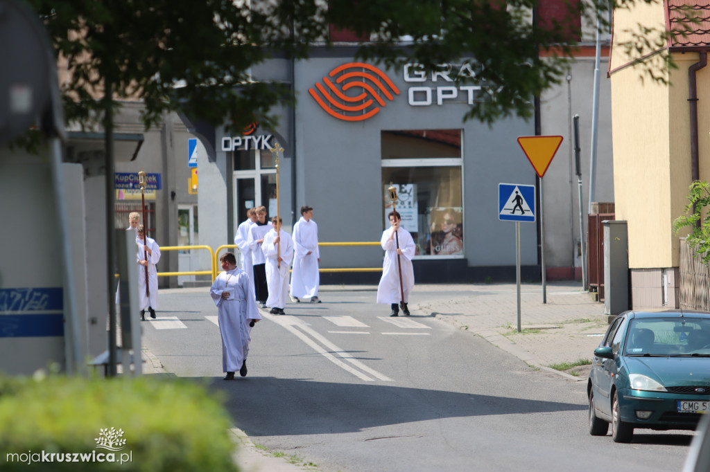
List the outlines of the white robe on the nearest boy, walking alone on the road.
{"type": "Polygon", "coordinates": [[[214,305],[217,305],[219,333],[222,335],[222,371],[236,372],[249,354],[251,320],[261,320],[256,309],[254,289],[246,272],[236,267],[220,272],[209,289],[214,305]],[[222,299],[228,291],[229,298],[222,299]]]}

